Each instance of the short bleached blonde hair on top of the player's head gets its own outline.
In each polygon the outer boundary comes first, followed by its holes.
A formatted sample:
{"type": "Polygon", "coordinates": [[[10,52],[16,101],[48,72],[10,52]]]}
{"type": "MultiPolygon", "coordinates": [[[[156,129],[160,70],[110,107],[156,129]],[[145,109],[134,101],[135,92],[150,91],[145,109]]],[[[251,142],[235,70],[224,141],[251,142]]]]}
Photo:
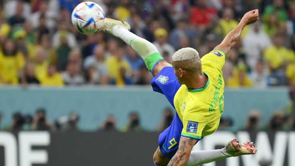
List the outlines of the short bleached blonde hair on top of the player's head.
{"type": "Polygon", "coordinates": [[[198,51],[194,48],[186,47],[176,51],[172,56],[173,62],[187,61],[191,59],[200,59],[198,51]]]}

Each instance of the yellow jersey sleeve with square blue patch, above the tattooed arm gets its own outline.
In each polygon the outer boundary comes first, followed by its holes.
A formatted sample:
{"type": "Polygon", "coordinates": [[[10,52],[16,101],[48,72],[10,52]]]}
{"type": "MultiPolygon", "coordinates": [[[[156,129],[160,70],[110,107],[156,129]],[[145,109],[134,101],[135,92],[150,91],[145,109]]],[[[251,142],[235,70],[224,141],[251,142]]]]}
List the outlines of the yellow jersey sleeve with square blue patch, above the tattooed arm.
{"type": "Polygon", "coordinates": [[[202,132],[206,126],[206,116],[199,106],[192,106],[183,114],[183,129],[181,136],[201,140],[202,132]]]}

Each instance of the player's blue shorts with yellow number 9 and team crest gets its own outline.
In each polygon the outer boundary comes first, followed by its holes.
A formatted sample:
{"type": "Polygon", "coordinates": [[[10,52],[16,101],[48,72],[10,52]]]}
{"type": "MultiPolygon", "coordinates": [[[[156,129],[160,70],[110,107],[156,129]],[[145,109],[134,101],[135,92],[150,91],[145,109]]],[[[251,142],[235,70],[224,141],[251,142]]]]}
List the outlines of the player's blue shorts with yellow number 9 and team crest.
{"type": "MultiPolygon", "coordinates": [[[[151,84],[153,90],[165,95],[173,108],[175,108],[174,96],[181,84],[178,82],[178,79],[174,74],[173,67],[164,67],[159,74],[152,79],[151,84]]],[[[159,136],[159,147],[165,157],[172,158],[178,150],[182,128],[182,121],[176,113],[171,125],[159,136]]]]}

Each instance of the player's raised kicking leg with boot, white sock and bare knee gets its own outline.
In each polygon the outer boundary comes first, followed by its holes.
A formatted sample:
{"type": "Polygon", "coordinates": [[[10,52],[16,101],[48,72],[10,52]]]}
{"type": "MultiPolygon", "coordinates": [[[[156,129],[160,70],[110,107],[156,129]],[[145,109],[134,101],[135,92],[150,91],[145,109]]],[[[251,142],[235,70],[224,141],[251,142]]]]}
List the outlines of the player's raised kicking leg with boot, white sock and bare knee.
{"type": "Polygon", "coordinates": [[[135,50],[145,61],[145,65],[154,76],[164,67],[171,66],[171,64],[163,59],[152,43],[130,32],[130,25],[127,22],[106,18],[104,19],[103,28],[101,30],[122,39],[127,45],[135,50]]]}

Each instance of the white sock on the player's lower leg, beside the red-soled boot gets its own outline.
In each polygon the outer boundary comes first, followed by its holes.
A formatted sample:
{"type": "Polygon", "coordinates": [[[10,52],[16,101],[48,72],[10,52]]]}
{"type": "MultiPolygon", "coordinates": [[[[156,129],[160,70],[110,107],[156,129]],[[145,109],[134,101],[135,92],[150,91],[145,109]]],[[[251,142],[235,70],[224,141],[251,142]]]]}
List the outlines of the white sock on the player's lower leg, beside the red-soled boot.
{"type": "Polygon", "coordinates": [[[192,151],[185,166],[202,165],[228,157],[232,157],[232,155],[228,154],[224,148],[217,150],[192,151]]]}

